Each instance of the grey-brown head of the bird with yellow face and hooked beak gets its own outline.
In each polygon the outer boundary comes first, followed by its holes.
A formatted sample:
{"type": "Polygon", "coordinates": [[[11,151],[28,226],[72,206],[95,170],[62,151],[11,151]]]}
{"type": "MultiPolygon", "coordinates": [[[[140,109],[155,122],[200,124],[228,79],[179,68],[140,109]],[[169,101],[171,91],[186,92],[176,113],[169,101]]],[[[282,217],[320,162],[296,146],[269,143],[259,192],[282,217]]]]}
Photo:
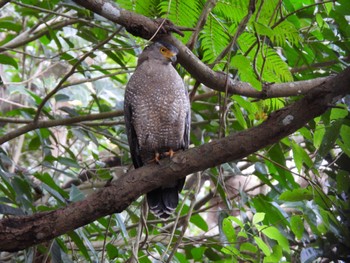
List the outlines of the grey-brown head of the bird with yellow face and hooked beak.
{"type": "Polygon", "coordinates": [[[157,59],[165,63],[175,62],[178,53],[179,50],[175,46],[164,41],[157,41],[143,50],[139,56],[138,64],[140,65],[147,59],[157,59]]]}

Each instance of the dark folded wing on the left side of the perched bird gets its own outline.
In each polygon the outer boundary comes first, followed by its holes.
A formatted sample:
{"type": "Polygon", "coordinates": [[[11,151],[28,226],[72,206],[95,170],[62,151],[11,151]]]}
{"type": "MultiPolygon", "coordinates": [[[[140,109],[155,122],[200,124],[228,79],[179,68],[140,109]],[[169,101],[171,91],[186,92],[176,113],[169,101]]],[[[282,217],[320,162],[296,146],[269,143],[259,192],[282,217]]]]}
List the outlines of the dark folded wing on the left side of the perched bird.
{"type": "Polygon", "coordinates": [[[143,166],[141,155],[140,155],[140,147],[137,140],[137,134],[132,124],[132,108],[131,105],[126,103],[124,107],[124,118],[125,118],[125,127],[126,132],[128,134],[128,141],[130,147],[130,153],[132,162],[135,168],[139,168],[143,166]]]}

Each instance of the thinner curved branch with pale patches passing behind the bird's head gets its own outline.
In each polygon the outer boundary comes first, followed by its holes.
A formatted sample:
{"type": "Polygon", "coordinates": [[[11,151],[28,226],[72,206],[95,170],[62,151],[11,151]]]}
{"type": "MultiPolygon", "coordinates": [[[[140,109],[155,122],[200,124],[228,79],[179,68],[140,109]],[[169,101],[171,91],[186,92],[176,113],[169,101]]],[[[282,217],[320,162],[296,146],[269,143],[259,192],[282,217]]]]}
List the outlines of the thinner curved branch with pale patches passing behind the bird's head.
{"type": "MultiPolygon", "coordinates": [[[[117,24],[125,27],[125,29],[133,34],[144,39],[150,39],[159,29],[159,20],[152,20],[148,17],[119,8],[115,3],[108,0],[74,0],[77,4],[95,12],[106,19],[109,19],[117,24]]],[[[286,97],[305,94],[309,88],[302,88],[306,82],[301,82],[298,88],[294,88],[294,82],[290,84],[274,84],[270,85],[267,90],[258,91],[249,83],[241,81],[233,81],[229,79],[223,72],[215,72],[198,59],[191,50],[182,44],[181,41],[171,36],[169,33],[176,31],[174,25],[165,23],[162,30],[159,30],[155,39],[166,40],[179,49],[178,61],[180,64],[200,83],[208,86],[211,89],[227,92],[229,94],[238,94],[253,98],[272,98],[286,97]],[[282,87],[288,86],[285,93],[281,92],[282,87]]],[[[324,79],[321,80],[321,82],[324,79]]],[[[308,87],[313,88],[321,82],[308,82],[308,87]],[[310,86],[313,84],[313,86],[310,86]]]]}

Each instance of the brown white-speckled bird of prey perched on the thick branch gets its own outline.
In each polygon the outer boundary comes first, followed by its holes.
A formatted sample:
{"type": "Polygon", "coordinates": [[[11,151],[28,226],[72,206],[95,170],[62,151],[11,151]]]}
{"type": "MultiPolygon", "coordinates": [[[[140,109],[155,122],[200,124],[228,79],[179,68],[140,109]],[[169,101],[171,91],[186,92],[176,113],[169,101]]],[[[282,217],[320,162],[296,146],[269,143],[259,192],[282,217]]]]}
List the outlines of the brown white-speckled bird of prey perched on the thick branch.
{"type": "MultiPolygon", "coordinates": [[[[135,168],[187,149],[190,102],[180,75],[172,65],[178,49],[166,42],[147,46],[125,90],[124,116],[135,168]]],[[[185,179],[171,180],[147,193],[150,210],[168,218],[179,202],[185,179]]]]}

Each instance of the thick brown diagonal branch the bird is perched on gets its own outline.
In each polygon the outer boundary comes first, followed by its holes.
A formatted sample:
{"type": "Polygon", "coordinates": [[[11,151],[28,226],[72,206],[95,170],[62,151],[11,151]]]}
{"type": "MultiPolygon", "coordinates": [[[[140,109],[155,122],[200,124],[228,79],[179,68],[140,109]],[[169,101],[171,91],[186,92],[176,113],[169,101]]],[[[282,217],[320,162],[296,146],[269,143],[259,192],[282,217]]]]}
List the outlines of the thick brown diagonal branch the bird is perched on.
{"type": "Polygon", "coordinates": [[[190,173],[243,158],[278,142],[323,114],[329,105],[350,93],[350,68],[312,89],[304,98],[272,113],[261,125],[177,153],[159,165],[133,170],[85,200],[55,211],[0,221],[0,250],[18,251],[48,241],[111,213],[123,211],[150,190],[190,173]]]}

